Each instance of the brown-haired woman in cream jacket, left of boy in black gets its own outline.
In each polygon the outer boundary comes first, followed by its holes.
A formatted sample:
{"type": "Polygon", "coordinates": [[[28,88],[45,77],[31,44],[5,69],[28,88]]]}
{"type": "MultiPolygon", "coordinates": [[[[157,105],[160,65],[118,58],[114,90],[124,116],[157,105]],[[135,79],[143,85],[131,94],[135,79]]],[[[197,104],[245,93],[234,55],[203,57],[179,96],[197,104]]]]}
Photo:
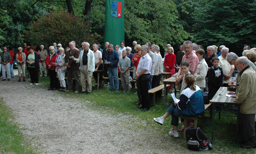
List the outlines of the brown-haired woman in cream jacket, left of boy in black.
{"type": "Polygon", "coordinates": [[[208,65],[205,62],[205,51],[203,49],[198,49],[196,55],[199,59],[199,64],[197,66],[197,86],[204,91],[205,88],[205,77],[208,72],[208,65]]]}

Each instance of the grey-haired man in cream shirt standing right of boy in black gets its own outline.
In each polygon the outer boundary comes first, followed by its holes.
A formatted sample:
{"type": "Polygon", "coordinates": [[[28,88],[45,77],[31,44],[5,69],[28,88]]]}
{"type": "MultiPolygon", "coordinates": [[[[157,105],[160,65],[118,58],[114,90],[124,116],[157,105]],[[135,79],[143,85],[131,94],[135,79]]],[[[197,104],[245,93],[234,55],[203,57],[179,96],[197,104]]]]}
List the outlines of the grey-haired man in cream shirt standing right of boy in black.
{"type": "Polygon", "coordinates": [[[219,64],[218,66],[222,68],[223,71],[223,87],[227,87],[228,84],[231,82],[231,75],[235,71],[235,66],[230,65],[229,62],[226,60],[227,55],[229,54],[229,48],[223,47],[221,50],[221,56],[219,57],[219,64]]]}

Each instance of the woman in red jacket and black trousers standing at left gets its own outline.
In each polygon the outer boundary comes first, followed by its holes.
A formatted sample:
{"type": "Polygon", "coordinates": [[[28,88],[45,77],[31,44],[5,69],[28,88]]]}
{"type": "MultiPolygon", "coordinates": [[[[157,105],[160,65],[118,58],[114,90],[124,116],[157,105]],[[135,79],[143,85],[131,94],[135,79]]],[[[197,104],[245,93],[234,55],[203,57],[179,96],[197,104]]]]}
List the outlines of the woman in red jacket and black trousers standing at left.
{"type": "Polygon", "coordinates": [[[50,88],[48,90],[57,90],[57,72],[55,71],[55,61],[58,54],[54,50],[54,46],[49,47],[50,53],[46,57],[46,67],[50,77],[50,88]]]}

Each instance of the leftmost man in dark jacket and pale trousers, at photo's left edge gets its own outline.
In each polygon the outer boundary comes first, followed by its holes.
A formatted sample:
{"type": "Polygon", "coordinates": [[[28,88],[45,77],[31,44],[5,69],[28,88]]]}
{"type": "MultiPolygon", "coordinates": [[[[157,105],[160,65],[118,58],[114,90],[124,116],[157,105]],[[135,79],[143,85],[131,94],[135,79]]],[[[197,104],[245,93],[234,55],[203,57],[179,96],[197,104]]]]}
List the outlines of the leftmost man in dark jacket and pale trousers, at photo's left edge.
{"type": "Polygon", "coordinates": [[[11,59],[11,55],[9,52],[7,52],[7,47],[4,46],[3,47],[4,51],[0,53],[1,56],[1,70],[2,70],[2,75],[3,75],[3,79],[2,81],[6,81],[6,73],[7,73],[7,80],[10,81],[11,80],[11,72],[10,72],[10,61],[11,59]]]}

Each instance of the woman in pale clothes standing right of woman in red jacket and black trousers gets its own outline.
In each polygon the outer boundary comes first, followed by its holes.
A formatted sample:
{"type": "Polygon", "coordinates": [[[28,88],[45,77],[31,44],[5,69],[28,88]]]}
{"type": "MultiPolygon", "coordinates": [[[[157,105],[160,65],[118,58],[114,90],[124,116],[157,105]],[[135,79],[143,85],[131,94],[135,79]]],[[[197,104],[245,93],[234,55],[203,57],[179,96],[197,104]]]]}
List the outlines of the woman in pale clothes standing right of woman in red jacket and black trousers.
{"type": "Polygon", "coordinates": [[[66,73],[66,63],[65,63],[65,54],[64,49],[62,47],[59,48],[59,55],[55,61],[55,71],[59,77],[60,88],[59,90],[65,91],[66,90],[66,82],[65,82],[65,73],[66,73]]]}

